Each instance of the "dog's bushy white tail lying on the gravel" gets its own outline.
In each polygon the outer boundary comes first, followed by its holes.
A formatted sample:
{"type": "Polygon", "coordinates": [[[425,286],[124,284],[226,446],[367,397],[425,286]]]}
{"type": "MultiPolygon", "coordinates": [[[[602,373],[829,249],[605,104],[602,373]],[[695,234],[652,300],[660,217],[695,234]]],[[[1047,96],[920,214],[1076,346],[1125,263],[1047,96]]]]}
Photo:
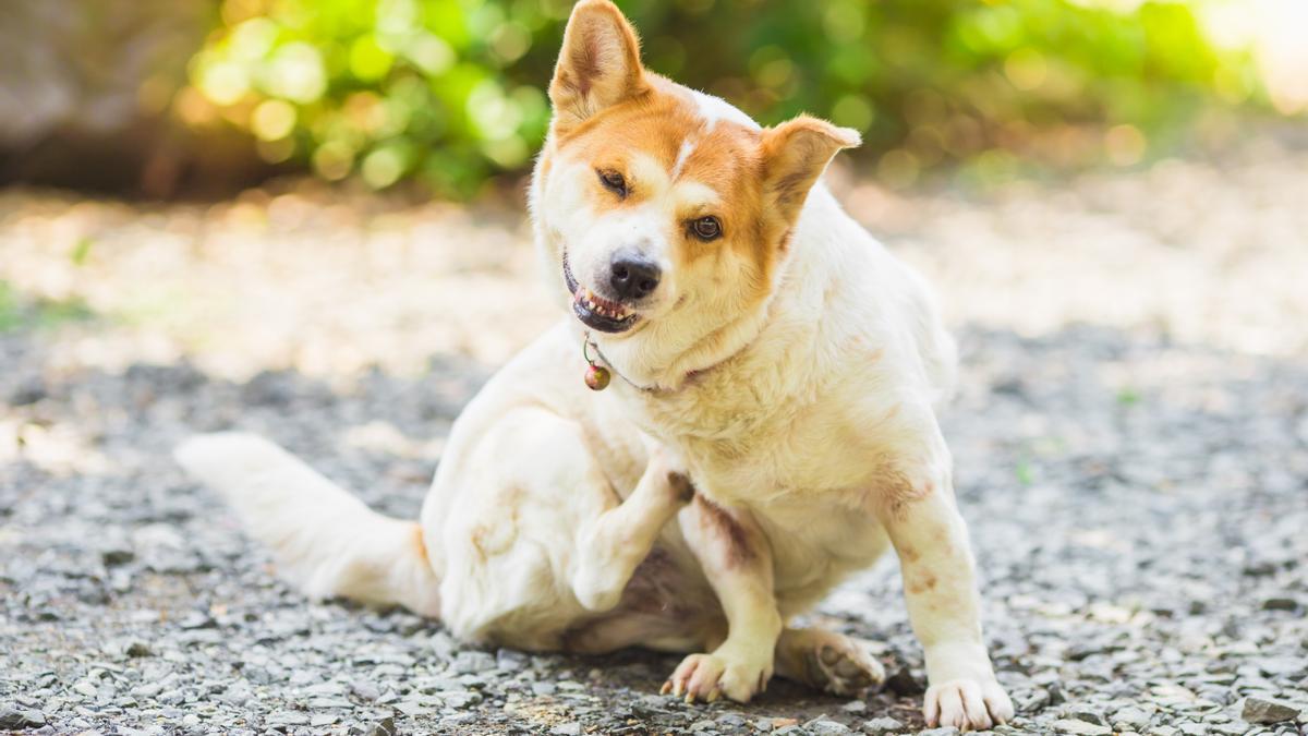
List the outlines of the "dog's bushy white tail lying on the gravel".
{"type": "Polygon", "coordinates": [[[174,457],[226,498],[272,549],[281,576],[306,595],[439,614],[439,580],[417,523],[371,511],[256,435],[199,435],[174,457]]]}

